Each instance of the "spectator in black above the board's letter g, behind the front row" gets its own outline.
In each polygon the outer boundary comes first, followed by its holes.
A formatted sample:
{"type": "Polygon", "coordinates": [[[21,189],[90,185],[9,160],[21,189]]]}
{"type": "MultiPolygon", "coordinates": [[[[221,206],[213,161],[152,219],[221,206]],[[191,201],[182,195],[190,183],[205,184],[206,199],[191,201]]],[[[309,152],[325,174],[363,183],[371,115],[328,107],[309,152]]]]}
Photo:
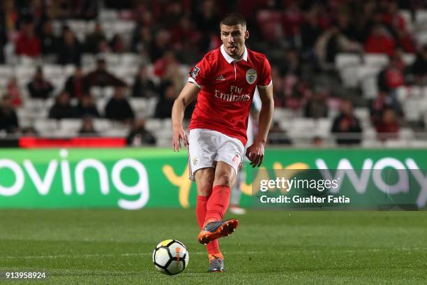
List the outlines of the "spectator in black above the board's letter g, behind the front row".
{"type": "Polygon", "coordinates": [[[133,122],[135,114],[123,94],[123,87],[114,89],[114,96],[105,106],[105,117],[114,121],[121,121],[123,124],[133,122]]]}

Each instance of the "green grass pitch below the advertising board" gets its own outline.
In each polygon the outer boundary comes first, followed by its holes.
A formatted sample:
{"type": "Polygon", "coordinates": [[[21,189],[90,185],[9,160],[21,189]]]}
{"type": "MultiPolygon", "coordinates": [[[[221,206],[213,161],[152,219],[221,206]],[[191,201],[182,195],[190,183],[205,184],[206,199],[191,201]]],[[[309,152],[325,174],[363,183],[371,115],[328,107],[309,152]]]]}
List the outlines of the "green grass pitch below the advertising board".
{"type": "Polygon", "coordinates": [[[239,219],[221,240],[227,271],[208,274],[193,210],[1,210],[0,272],[45,270],[49,284],[427,284],[427,212],[253,210],[239,219]],[[190,252],[174,277],[151,263],[167,238],[190,252]]]}

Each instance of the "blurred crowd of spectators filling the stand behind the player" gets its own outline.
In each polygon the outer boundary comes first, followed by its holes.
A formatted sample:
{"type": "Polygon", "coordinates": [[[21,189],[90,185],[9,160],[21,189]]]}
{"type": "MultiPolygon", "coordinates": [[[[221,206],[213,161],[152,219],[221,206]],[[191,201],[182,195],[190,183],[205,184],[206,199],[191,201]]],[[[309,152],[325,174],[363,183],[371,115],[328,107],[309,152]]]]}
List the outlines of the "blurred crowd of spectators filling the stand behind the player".
{"type": "MultiPolygon", "coordinates": [[[[405,121],[396,89],[407,84],[425,86],[427,82],[427,45],[417,42],[399,13],[400,9],[412,13],[426,9],[426,2],[421,0],[3,0],[0,5],[0,64],[8,63],[8,46],[13,47],[16,56],[40,59],[40,66],[24,88],[31,98],[55,98],[50,118],[82,118],[82,134],[96,134],[90,118],[102,116],[132,125],[130,135],[147,138],[143,143],[155,143],[156,138],[144,131],[144,119],[137,119],[144,115],[135,114],[129,96],[157,97],[154,117],[170,117],[174,99],[186,78],[179,66],[191,66],[205,52],[219,47],[219,19],[234,10],[243,13],[248,21],[248,47],[266,53],[271,61],[276,108],[299,110],[304,117],[329,117],[328,101],[338,98],[340,112],[334,118],[332,133],[362,132],[353,112],[354,100],[346,96],[345,90],[339,89],[338,94],[318,80],[319,75],[339,78],[334,73],[336,54],[380,53],[389,57],[389,64],[377,76],[377,97],[361,103],[368,106],[380,140],[398,133],[405,121]],[[115,9],[121,19],[135,21],[133,33],[107,37],[98,21],[102,9],[115,9]],[[78,38],[66,24],[55,31],[54,22],[67,19],[95,24],[84,38],[78,38]],[[138,54],[141,63],[132,85],[110,73],[105,61],[105,54],[129,52],[138,54]],[[416,56],[410,66],[403,63],[405,53],[416,56]],[[83,72],[82,54],[96,57],[92,71],[83,72]],[[59,92],[54,92],[50,78],[43,75],[44,63],[75,66],[59,92]],[[152,66],[153,74],[148,66],[152,66]],[[105,110],[97,109],[91,95],[93,86],[114,87],[105,110]]],[[[0,130],[36,132],[20,129],[15,108],[24,104],[22,88],[17,78],[8,82],[1,96],[0,130]]],[[[190,112],[191,108],[187,118],[190,112]]],[[[278,122],[271,131],[283,133],[278,122]]],[[[359,142],[360,136],[337,139],[338,144],[359,142]]],[[[271,143],[292,142],[282,138],[271,143]]],[[[321,144],[320,138],[315,138],[313,144],[321,144]]]]}

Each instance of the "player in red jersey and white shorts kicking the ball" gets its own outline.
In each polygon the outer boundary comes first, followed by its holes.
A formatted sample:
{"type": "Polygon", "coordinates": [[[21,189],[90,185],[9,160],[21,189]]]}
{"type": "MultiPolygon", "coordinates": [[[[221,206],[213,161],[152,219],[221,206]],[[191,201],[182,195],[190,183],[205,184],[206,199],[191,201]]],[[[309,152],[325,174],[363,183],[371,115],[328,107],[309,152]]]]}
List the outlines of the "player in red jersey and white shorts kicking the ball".
{"type": "Polygon", "coordinates": [[[188,147],[190,179],[196,182],[196,218],[200,226],[197,237],[207,245],[209,272],[223,272],[224,260],[218,238],[230,235],[239,221],[222,221],[230,203],[230,189],[244,158],[248,115],[255,87],[262,107],[259,130],[246,150],[252,167],[264,159],[264,145],[273,116],[271,68],[264,54],[246,48],[249,38],[246,20],[239,13],[230,13],[220,22],[223,45],[208,52],[191,69],[172,108],[174,151],[181,140],[188,147]],[[183,130],[186,107],[197,98],[188,127],[183,130]]]}

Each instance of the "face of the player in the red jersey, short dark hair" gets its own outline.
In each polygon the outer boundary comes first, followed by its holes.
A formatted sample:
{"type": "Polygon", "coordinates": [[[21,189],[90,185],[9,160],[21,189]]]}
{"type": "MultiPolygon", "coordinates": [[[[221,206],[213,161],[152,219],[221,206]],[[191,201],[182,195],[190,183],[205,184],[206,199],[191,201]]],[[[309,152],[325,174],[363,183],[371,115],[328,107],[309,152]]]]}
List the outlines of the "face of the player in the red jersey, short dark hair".
{"type": "Polygon", "coordinates": [[[249,37],[249,32],[246,26],[236,24],[234,26],[220,25],[221,41],[223,41],[225,52],[234,59],[239,59],[244,52],[246,38],[249,37]]]}

